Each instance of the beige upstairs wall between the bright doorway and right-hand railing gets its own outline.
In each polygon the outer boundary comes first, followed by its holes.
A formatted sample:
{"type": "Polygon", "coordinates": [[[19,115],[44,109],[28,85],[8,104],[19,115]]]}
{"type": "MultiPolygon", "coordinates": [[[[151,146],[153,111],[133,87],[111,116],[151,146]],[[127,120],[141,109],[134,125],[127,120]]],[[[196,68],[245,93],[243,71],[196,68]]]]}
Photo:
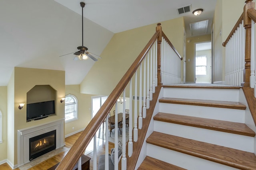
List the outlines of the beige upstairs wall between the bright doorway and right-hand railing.
{"type": "Polygon", "coordinates": [[[225,47],[230,31],[241,16],[244,0],[217,0],[214,13],[214,82],[225,80],[225,47]],[[232,5],[231,5],[232,4],[232,5]]]}

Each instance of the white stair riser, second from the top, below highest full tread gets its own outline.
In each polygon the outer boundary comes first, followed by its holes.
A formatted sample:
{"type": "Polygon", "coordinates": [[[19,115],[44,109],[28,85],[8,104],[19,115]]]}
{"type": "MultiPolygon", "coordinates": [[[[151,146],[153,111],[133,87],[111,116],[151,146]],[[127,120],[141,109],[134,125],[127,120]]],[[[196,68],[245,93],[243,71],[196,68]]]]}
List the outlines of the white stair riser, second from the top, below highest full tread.
{"type": "Polygon", "coordinates": [[[244,123],[244,110],[160,103],[159,112],[244,123]]]}

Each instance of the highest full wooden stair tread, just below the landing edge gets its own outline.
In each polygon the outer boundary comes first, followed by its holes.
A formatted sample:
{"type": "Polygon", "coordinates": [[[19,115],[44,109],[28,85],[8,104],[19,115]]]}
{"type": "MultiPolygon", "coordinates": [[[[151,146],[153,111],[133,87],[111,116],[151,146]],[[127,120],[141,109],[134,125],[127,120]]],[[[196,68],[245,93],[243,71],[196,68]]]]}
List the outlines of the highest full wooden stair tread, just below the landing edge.
{"type": "Polygon", "coordinates": [[[208,107],[222,107],[229,109],[242,109],[245,110],[246,106],[240,102],[226,102],[216,100],[198,100],[198,99],[183,99],[183,98],[161,98],[160,103],[171,103],[171,104],[187,104],[196,106],[208,106],[208,107]]]}

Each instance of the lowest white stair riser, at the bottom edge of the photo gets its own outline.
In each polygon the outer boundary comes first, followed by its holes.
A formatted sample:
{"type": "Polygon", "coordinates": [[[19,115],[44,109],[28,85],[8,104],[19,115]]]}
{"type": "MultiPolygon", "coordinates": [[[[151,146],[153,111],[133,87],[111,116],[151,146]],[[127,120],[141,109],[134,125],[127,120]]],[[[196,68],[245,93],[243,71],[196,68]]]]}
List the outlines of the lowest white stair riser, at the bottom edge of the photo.
{"type": "Polygon", "coordinates": [[[238,170],[230,166],[225,166],[151,144],[147,144],[147,155],[188,170],[238,170]]]}

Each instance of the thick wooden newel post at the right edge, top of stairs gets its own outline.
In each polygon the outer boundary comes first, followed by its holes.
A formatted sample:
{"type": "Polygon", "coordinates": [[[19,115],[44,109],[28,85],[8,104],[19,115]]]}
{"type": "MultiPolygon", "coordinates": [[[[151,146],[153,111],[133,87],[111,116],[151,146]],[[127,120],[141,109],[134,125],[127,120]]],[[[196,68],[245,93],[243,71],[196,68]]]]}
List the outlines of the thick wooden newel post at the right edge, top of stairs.
{"type": "Polygon", "coordinates": [[[245,34],[245,69],[244,69],[244,82],[241,84],[243,87],[250,86],[250,70],[251,70],[251,34],[252,34],[252,19],[248,16],[247,10],[255,7],[252,0],[246,0],[244,6],[244,28],[245,34]]]}

